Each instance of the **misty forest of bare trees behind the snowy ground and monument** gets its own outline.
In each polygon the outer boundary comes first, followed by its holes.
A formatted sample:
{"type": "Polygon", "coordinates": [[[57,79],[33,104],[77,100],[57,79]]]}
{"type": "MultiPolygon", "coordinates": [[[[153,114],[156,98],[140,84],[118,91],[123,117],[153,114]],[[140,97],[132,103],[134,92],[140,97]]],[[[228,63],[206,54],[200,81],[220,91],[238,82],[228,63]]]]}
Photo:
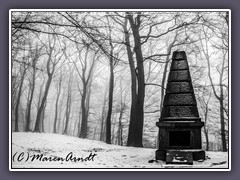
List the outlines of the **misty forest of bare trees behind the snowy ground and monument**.
{"type": "Polygon", "coordinates": [[[226,11],[12,11],[11,129],[156,148],[173,51],[185,51],[207,151],[228,151],[226,11]]]}

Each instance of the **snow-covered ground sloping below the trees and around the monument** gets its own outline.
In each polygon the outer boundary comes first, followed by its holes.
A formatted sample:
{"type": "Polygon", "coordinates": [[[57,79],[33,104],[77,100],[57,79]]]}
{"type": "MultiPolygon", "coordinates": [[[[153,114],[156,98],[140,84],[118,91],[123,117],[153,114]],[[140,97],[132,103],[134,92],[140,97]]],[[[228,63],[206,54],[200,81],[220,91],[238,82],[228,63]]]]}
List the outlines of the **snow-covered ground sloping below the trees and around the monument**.
{"type": "Polygon", "coordinates": [[[12,133],[12,168],[228,168],[228,153],[206,152],[193,165],[153,161],[156,149],[108,145],[50,133],[12,133]],[[39,157],[38,157],[39,155],[39,157]],[[75,161],[74,161],[75,159],[75,161]]]}

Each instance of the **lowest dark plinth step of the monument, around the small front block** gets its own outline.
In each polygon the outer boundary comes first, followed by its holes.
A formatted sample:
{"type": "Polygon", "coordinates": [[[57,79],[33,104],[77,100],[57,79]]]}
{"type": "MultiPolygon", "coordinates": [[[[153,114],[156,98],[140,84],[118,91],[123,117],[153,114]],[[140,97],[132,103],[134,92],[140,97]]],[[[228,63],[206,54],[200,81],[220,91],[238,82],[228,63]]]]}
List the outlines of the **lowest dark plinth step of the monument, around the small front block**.
{"type": "Polygon", "coordinates": [[[156,160],[166,161],[168,152],[191,153],[194,161],[206,159],[205,151],[202,149],[158,149],[156,151],[156,160]]]}

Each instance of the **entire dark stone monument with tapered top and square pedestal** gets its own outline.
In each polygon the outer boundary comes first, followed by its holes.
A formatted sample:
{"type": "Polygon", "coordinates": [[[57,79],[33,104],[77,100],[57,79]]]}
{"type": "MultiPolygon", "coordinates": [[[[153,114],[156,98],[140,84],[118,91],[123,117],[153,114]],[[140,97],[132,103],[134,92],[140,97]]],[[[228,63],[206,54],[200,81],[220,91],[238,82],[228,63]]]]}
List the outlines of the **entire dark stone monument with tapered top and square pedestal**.
{"type": "Polygon", "coordinates": [[[205,160],[201,141],[204,122],[199,117],[184,51],[173,52],[161,117],[156,125],[159,128],[157,160],[176,164],[205,160]]]}

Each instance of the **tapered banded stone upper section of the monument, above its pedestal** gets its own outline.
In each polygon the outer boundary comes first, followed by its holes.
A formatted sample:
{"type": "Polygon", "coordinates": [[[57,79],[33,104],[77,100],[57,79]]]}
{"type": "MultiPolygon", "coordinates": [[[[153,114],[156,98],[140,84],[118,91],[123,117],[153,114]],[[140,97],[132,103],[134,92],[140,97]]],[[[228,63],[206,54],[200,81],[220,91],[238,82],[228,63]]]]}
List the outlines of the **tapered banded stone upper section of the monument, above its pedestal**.
{"type": "Polygon", "coordinates": [[[184,51],[173,52],[160,121],[200,121],[184,51]]]}

